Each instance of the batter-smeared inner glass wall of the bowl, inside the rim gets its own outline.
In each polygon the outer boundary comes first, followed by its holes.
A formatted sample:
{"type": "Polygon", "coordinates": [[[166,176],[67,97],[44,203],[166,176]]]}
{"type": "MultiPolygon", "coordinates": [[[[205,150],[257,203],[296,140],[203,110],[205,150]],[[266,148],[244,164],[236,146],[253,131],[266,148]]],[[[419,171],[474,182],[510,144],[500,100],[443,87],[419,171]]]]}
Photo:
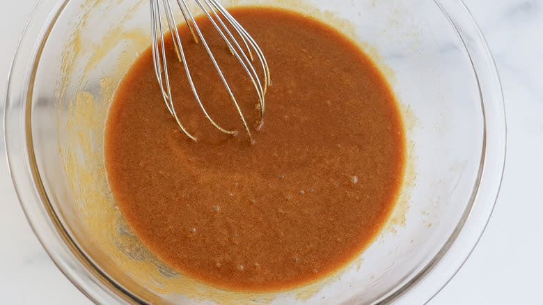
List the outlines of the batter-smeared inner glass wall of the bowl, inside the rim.
{"type": "Polygon", "coordinates": [[[111,195],[103,139],[120,79],[150,45],[144,0],[71,0],[52,15],[31,96],[36,183],[85,256],[141,302],[372,304],[386,299],[442,254],[473,202],[484,114],[464,43],[433,1],[222,2],[289,8],[322,19],[356,41],[388,77],[407,130],[408,169],[391,219],[359,258],[306,287],[233,293],[178,274],[139,242],[111,195]]]}

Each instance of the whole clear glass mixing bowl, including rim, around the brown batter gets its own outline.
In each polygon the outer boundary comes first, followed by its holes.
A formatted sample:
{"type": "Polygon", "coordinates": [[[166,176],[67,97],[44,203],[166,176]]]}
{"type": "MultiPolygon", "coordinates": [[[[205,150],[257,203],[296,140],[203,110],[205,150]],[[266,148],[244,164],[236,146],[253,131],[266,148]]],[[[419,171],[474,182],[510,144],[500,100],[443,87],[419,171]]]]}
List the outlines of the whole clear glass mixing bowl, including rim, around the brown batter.
{"type": "Polygon", "coordinates": [[[426,302],[478,242],[503,173],[501,85],[469,11],[459,0],[224,2],[313,15],[384,70],[402,104],[409,170],[381,235],[337,274],[291,291],[229,292],[177,274],[132,234],[104,171],[108,105],[150,43],[148,1],[44,0],[17,49],[5,114],[13,182],[43,247],[100,304],[426,302]]]}

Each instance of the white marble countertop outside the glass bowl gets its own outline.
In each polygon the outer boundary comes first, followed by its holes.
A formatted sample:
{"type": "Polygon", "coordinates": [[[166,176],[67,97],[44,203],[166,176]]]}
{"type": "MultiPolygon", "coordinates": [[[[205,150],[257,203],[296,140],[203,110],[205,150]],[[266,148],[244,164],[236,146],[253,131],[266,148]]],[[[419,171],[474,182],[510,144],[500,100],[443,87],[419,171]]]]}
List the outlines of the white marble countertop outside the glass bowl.
{"type": "MultiPolygon", "coordinates": [[[[478,247],[430,305],[543,304],[543,1],[465,0],[503,81],[508,146],[498,203],[478,247]]],[[[18,37],[37,0],[3,1],[0,110],[18,37]]],[[[0,136],[0,303],[91,304],[33,235],[0,136]]]]}

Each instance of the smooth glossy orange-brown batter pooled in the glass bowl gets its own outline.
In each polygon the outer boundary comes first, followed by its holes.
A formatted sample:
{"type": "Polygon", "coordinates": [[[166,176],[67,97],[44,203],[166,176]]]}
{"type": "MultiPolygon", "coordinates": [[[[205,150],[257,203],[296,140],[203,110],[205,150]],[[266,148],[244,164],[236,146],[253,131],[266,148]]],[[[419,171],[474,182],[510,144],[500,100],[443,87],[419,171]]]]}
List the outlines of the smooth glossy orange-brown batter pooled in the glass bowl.
{"type": "MultiPolygon", "coordinates": [[[[404,130],[386,79],[340,33],[283,10],[231,13],[272,72],[264,125],[251,126],[255,143],[201,44],[180,26],[207,110],[239,135],[205,120],[166,40],[175,106],[198,141],[168,113],[149,49],[111,105],[107,173],[136,235],[179,272],[226,289],[283,290],[337,270],[379,233],[400,190],[404,130]]],[[[210,25],[198,25],[256,122],[258,100],[244,71],[210,25]]]]}

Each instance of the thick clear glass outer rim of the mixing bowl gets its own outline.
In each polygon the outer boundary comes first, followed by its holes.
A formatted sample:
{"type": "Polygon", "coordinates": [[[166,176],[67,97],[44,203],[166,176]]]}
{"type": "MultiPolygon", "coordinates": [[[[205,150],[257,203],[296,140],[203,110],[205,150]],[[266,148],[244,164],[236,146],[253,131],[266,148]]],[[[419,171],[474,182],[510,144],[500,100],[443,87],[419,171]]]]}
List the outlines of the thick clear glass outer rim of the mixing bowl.
{"type": "MultiPolygon", "coordinates": [[[[26,219],[58,269],[97,304],[145,304],[110,279],[63,228],[42,186],[31,136],[33,79],[47,37],[69,0],[41,0],[27,22],[8,77],[3,130],[8,169],[26,219]],[[38,39],[36,39],[38,38],[38,39]],[[27,58],[33,58],[29,61],[27,58]]],[[[434,0],[469,54],[481,98],[483,147],[470,204],[439,252],[412,279],[372,304],[426,303],[455,276],[478,244],[501,187],[507,127],[501,80],[478,25],[462,0],[434,0]]]]}

